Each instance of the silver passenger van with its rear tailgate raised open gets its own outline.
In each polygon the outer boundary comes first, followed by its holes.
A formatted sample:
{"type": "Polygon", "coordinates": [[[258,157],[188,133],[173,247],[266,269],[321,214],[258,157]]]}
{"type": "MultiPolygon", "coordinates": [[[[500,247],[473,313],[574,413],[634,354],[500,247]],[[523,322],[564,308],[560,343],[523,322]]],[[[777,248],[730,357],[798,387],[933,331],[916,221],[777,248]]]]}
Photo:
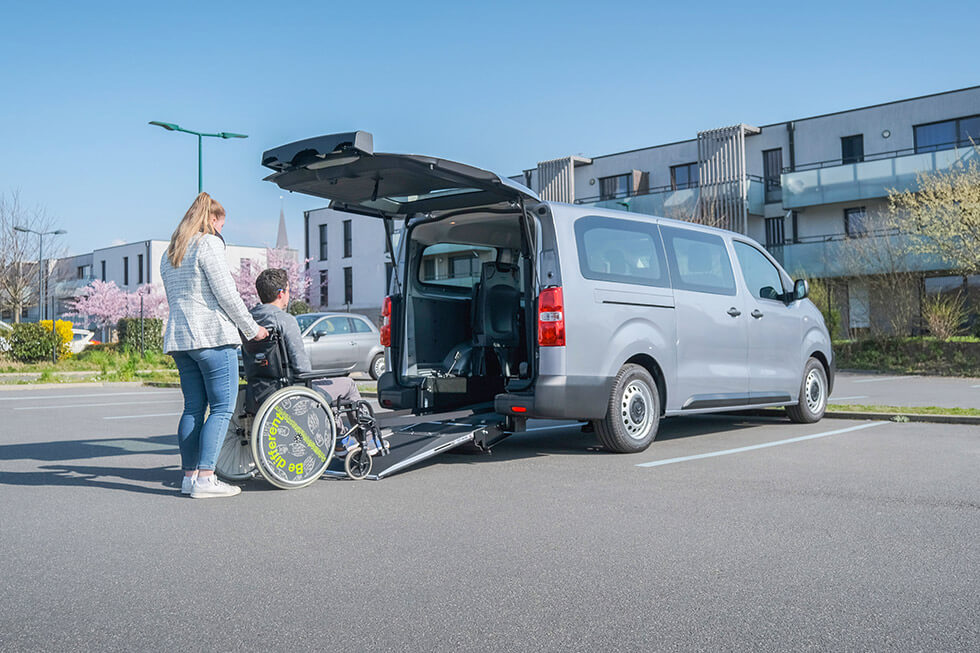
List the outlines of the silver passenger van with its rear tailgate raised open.
{"type": "Polygon", "coordinates": [[[806,281],[741,234],[542,201],[507,178],[375,153],[370,134],[270,150],[267,179],[383,220],[380,403],[592,422],[647,448],[662,417],[785,406],[819,420],[834,379],[806,281]],[[390,235],[405,228],[398,251],[390,235]]]}

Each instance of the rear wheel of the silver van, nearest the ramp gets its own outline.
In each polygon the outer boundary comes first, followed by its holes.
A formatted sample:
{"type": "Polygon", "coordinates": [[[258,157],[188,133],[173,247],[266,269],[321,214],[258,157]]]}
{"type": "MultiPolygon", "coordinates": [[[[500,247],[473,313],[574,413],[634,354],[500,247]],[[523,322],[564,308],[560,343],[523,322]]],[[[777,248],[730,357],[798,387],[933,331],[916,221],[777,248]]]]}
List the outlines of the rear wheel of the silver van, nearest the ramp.
{"type": "Polygon", "coordinates": [[[606,416],[593,422],[602,445],[616,453],[645,450],[660,426],[660,391],[646,368],[624,365],[613,380],[606,416]]]}

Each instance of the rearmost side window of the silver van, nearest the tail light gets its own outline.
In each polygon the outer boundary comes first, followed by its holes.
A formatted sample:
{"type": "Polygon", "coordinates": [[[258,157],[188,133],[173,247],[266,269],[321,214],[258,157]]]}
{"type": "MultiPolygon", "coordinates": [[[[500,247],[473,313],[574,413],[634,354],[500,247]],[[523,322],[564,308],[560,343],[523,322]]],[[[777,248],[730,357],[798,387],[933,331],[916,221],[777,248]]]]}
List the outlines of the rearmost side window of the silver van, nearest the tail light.
{"type": "Polygon", "coordinates": [[[586,279],[670,287],[654,223],[588,216],[575,222],[575,240],[586,279]]]}

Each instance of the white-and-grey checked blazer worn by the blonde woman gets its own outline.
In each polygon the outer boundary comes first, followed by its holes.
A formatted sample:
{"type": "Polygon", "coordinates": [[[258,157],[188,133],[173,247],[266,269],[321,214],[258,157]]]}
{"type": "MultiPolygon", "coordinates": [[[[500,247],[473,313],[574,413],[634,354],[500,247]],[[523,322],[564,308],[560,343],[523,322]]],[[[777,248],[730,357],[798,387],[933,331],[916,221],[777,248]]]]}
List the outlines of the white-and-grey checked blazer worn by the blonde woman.
{"type": "Polygon", "coordinates": [[[246,338],[259,332],[225,260],[225,244],[218,236],[201,234],[191,240],[180,267],[164,255],[160,277],[167,291],[170,317],[163,332],[165,352],[239,345],[239,330],[246,338]]]}

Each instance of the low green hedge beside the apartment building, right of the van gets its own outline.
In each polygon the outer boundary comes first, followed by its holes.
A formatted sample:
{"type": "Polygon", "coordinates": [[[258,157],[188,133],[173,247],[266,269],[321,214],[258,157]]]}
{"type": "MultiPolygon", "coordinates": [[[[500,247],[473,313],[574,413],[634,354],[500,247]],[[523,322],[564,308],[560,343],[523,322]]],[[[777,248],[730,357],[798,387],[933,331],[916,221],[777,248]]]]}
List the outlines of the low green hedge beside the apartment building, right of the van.
{"type": "Polygon", "coordinates": [[[980,342],[869,338],[834,343],[837,367],[935,376],[980,376],[980,342]]]}

